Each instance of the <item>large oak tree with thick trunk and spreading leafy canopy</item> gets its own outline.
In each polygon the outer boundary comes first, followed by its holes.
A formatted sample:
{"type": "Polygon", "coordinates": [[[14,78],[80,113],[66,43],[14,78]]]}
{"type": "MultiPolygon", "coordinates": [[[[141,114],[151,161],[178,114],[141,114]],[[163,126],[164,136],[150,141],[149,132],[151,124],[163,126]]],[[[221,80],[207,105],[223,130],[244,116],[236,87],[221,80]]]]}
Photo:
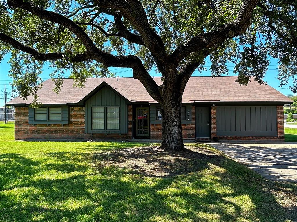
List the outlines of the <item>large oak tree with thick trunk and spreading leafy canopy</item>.
{"type": "MultiPolygon", "coordinates": [[[[211,60],[213,76],[235,63],[238,84],[260,84],[269,56],[279,61],[279,79],[297,91],[296,1],[38,0],[2,1],[0,50],[11,53],[11,71],[22,98],[38,103],[45,62],[59,92],[65,70],[75,84],[110,75],[108,67],[132,68],[163,107],[162,148],[183,149],[181,98],[189,77],[211,60]],[[162,74],[158,86],[149,71],[162,74]]],[[[0,58],[1,59],[1,58],[0,58]]]]}

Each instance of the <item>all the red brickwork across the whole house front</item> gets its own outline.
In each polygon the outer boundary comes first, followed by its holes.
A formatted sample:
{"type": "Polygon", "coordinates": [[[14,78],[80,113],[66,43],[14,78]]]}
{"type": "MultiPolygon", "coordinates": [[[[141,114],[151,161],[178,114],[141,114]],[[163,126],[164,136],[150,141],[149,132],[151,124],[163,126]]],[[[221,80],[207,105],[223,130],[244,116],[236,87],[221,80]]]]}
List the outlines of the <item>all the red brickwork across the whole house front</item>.
{"type": "MultiPolygon", "coordinates": [[[[211,107],[211,138],[217,135],[216,107],[211,107]]],[[[84,107],[70,107],[69,124],[37,124],[28,123],[28,108],[15,108],[15,139],[131,139],[132,138],[132,106],[128,106],[127,134],[86,134],[84,107]]],[[[195,106],[192,106],[192,123],[182,124],[183,138],[195,139],[195,106]]],[[[150,125],[150,138],[162,138],[162,125],[150,125]]],[[[277,137],[255,136],[219,136],[221,140],[284,140],[283,106],[277,106],[277,137]]]]}

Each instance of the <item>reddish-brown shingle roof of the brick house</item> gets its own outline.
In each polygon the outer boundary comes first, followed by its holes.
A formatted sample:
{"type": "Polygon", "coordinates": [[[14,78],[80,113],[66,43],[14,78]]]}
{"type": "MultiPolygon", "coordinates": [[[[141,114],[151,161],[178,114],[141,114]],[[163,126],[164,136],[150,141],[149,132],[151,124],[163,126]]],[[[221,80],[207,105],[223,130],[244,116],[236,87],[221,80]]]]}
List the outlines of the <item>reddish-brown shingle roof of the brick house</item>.
{"type": "MultiPolygon", "coordinates": [[[[220,77],[191,77],[184,90],[183,103],[194,101],[220,102],[281,102],[292,103],[288,97],[275,90],[271,86],[260,85],[253,79],[247,86],[240,86],[235,82],[237,76],[220,77]]],[[[160,85],[160,77],[154,77],[160,85]]],[[[64,79],[61,92],[57,95],[53,92],[54,83],[51,79],[43,82],[42,89],[38,91],[43,104],[67,104],[78,103],[102,82],[109,84],[114,90],[131,102],[146,101],[156,103],[146,89],[137,79],[131,78],[90,78],[86,79],[85,88],[73,87],[73,79],[64,79]]],[[[23,100],[17,97],[7,104],[30,104],[33,97],[23,100]]]]}

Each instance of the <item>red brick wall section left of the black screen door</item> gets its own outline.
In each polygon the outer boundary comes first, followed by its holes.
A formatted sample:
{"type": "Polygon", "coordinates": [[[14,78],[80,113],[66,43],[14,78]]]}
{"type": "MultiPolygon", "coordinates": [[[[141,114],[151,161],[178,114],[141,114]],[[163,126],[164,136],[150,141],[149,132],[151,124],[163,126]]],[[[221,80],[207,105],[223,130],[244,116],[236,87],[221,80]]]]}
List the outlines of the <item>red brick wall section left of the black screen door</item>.
{"type": "Polygon", "coordinates": [[[128,139],[132,138],[132,106],[128,106],[127,134],[86,134],[85,108],[70,107],[69,124],[28,123],[28,108],[15,108],[15,139],[128,139]]]}

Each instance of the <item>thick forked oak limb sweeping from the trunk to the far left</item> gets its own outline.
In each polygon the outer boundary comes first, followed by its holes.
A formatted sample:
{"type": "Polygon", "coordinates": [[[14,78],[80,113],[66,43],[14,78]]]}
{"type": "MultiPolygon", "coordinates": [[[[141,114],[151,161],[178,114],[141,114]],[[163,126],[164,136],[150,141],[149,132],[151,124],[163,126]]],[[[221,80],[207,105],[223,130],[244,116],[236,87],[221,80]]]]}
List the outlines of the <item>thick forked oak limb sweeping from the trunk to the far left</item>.
{"type": "MultiPolygon", "coordinates": [[[[127,55],[127,56],[114,56],[108,52],[104,52],[101,49],[98,49],[90,37],[87,35],[85,31],[83,31],[80,26],[75,24],[69,18],[59,15],[55,12],[50,12],[40,7],[34,6],[29,2],[25,1],[15,1],[15,0],[8,0],[8,4],[13,7],[22,8],[25,11],[31,12],[32,14],[38,16],[40,19],[49,20],[54,23],[58,23],[63,25],[64,27],[68,28],[69,31],[75,33],[76,36],[83,42],[84,46],[88,51],[88,56],[90,59],[96,60],[103,65],[115,66],[115,67],[123,67],[123,68],[132,68],[133,69],[133,76],[135,79],[138,79],[149,92],[149,94],[156,100],[160,101],[160,93],[158,91],[159,86],[154,82],[151,78],[149,73],[144,68],[141,60],[134,56],[134,55],[127,55]]],[[[5,37],[5,36],[4,36],[5,37]]],[[[2,40],[2,39],[1,39],[2,40]]],[[[13,39],[10,39],[10,41],[13,39]]],[[[61,59],[63,54],[57,53],[48,53],[48,54],[40,54],[35,49],[31,47],[25,46],[20,44],[18,41],[11,41],[12,46],[17,47],[18,49],[32,53],[35,58],[40,60],[52,60],[52,59],[61,59]],[[46,56],[46,58],[44,58],[46,56]]]]}

